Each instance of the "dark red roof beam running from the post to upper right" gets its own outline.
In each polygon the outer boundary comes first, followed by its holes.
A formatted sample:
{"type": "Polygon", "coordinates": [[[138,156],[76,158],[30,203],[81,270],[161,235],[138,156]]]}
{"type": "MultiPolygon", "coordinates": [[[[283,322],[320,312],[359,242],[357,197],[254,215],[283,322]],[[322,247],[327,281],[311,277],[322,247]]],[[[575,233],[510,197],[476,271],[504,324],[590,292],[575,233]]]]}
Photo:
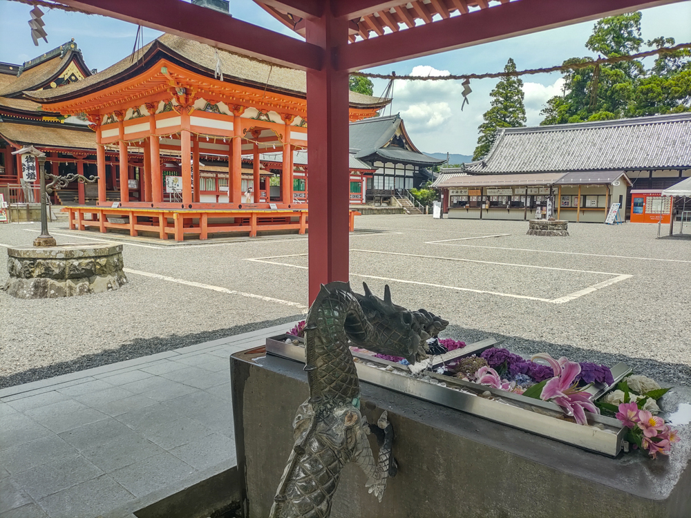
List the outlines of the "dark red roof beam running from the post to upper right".
{"type": "Polygon", "coordinates": [[[337,68],[352,72],[676,1],[518,0],[344,45],[337,52],[337,68]]]}

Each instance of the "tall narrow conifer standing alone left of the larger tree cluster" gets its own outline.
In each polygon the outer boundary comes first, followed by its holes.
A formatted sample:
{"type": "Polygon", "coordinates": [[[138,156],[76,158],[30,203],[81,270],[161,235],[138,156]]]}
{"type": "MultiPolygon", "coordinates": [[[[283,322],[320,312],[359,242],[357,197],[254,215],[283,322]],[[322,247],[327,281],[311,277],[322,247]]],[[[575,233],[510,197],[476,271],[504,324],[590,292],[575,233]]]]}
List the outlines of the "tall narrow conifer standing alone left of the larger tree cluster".
{"type": "MultiPolygon", "coordinates": [[[[516,64],[509,58],[504,72],[515,72],[516,64]]],[[[499,128],[517,128],[525,126],[525,106],[523,105],[523,81],[520,77],[502,77],[494,90],[491,108],[482,116],[484,122],[477,128],[480,137],[477,139],[477,147],[473,153],[473,160],[485,157],[492,148],[499,128]]]]}

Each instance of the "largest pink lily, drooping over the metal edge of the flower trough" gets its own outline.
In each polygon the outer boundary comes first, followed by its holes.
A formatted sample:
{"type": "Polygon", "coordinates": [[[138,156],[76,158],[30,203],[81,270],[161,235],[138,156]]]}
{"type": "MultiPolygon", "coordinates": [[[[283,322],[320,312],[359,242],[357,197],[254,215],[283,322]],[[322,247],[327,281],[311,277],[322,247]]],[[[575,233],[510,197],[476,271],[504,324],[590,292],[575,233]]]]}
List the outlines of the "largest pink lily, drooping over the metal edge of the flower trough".
{"type": "Polygon", "coordinates": [[[600,410],[590,401],[591,394],[578,390],[576,386],[576,376],[580,374],[580,365],[562,357],[555,360],[546,352],[534,355],[531,360],[542,358],[551,365],[554,377],[549,379],[542,387],[540,399],[542,401],[553,401],[566,412],[568,416],[574,416],[576,423],[587,425],[588,419],[585,410],[592,414],[599,414],[600,410]]]}

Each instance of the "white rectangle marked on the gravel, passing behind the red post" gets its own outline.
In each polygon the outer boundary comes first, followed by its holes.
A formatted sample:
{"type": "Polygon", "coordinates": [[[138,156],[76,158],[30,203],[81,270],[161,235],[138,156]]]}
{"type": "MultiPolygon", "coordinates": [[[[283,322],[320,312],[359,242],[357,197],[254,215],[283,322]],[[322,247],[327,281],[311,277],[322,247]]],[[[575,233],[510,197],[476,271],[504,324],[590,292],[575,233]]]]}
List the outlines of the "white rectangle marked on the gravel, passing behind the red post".
{"type": "MultiPolygon", "coordinates": [[[[489,262],[489,261],[475,261],[475,260],[469,260],[469,259],[457,259],[457,258],[444,258],[444,257],[431,257],[431,256],[415,256],[414,254],[411,253],[397,253],[397,252],[379,252],[379,251],[373,251],[373,250],[357,250],[357,249],[351,249],[350,251],[371,251],[372,253],[388,253],[391,255],[395,256],[412,256],[412,257],[421,257],[421,258],[430,258],[430,259],[447,259],[447,260],[460,260],[464,262],[482,262],[486,263],[489,265],[506,265],[506,266],[522,266],[522,267],[527,267],[527,268],[539,268],[539,269],[547,269],[547,270],[559,270],[559,271],[576,271],[579,273],[584,273],[584,274],[602,274],[602,275],[614,275],[616,277],[612,279],[605,280],[603,282],[598,282],[597,284],[588,286],[584,289],[580,289],[579,291],[574,291],[574,293],[554,298],[554,299],[549,299],[549,298],[540,298],[540,297],[531,297],[527,295],[515,295],[515,294],[507,294],[507,293],[501,293],[500,291],[486,291],[484,289],[472,289],[472,288],[462,288],[459,286],[446,286],[446,285],[439,285],[439,284],[432,284],[430,282],[419,282],[417,280],[405,280],[405,279],[395,279],[395,278],[390,278],[390,277],[379,277],[379,276],[374,276],[374,275],[365,275],[365,274],[354,274],[351,272],[351,276],[355,277],[364,277],[368,279],[379,279],[379,280],[388,280],[390,282],[403,282],[404,284],[415,284],[415,285],[421,285],[421,286],[430,286],[434,288],[446,288],[446,289],[454,289],[456,291],[472,291],[473,293],[479,293],[479,294],[489,294],[489,295],[498,295],[502,297],[511,297],[511,298],[522,298],[525,300],[538,300],[539,302],[544,302],[544,303],[550,303],[550,304],[563,304],[567,303],[571,300],[574,300],[578,297],[582,297],[587,294],[591,294],[594,291],[597,291],[598,289],[602,289],[607,286],[611,286],[615,284],[616,282],[620,282],[621,280],[626,280],[628,278],[632,278],[632,275],[628,274],[612,274],[609,272],[605,271],[589,271],[589,270],[573,270],[573,269],[567,269],[567,268],[553,268],[553,267],[540,267],[540,266],[533,266],[533,265],[513,265],[510,263],[506,262],[489,262]]],[[[278,265],[278,266],[287,266],[291,268],[298,268],[298,269],[303,269],[306,270],[308,267],[302,266],[302,265],[291,265],[290,263],[287,262],[278,262],[278,261],[270,261],[269,259],[279,259],[279,258],[285,258],[285,257],[303,257],[307,256],[306,253],[291,253],[289,255],[285,256],[271,256],[271,257],[264,257],[264,258],[250,258],[246,259],[248,261],[254,261],[254,262],[264,262],[267,265],[278,265]]]]}

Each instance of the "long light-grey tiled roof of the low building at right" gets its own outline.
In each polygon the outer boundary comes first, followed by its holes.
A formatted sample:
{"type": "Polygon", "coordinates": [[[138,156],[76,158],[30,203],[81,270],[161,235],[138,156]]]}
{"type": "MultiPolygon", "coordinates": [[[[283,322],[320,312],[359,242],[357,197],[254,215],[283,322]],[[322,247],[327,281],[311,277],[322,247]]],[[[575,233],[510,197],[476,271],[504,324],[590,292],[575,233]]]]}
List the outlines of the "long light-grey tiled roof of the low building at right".
{"type": "Polygon", "coordinates": [[[691,167],[691,113],[503,128],[471,174],[691,167]]]}

